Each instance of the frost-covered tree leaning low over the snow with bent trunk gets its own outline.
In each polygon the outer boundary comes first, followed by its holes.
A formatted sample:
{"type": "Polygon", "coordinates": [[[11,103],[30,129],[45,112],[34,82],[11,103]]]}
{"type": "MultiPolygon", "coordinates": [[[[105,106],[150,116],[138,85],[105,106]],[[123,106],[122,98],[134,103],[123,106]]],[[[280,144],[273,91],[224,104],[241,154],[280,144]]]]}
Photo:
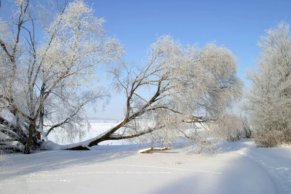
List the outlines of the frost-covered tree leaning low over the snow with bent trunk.
{"type": "Polygon", "coordinates": [[[111,69],[115,89],[126,96],[124,119],[90,140],[45,149],[90,149],[105,140],[139,138],[170,143],[180,136],[207,143],[208,137],[236,137],[239,119],[229,113],[242,95],[236,58],[224,47],[209,43],[182,47],[168,35],[152,44],[142,65],[111,69]],[[189,125],[192,125],[191,132],[189,125]],[[200,136],[203,125],[206,136],[200,136]]]}

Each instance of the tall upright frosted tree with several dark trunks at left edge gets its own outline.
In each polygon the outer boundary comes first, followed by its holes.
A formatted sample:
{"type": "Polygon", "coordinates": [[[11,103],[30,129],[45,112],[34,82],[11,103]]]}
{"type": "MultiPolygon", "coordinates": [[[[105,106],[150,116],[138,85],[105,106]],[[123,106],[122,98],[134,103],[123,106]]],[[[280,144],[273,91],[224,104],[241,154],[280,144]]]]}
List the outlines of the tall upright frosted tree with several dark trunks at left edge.
{"type": "Polygon", "coordinates": [[[12,3],[9,19],[0,18],[0,147],[30,153],[52,130],[82,137],[84,106],[109,97],[87,89],[95,69],[116,64],[123,47],[82,0],[12,3]]]}

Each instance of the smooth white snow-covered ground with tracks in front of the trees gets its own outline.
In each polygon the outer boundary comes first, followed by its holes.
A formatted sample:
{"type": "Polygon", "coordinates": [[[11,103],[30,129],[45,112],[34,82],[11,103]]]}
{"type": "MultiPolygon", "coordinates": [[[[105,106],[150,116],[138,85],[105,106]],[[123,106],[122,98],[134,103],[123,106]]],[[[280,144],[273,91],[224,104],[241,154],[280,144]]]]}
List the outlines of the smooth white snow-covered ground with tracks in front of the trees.
{"type": "MultiPolygon", "coordinates": [[[[88,136],[113,122],[92,122],[88,136]]],[[[213,156],[193,148],[139,154],[139,145],[108,142],[93,151],[12,154],[0,171],[1,194],[288,194],[291,147],[225,143],[213,156]],[[113,143],[111,145],[111,143],[113,143]],[[109,144],[109,145],[106,145],[109,144]]]]}

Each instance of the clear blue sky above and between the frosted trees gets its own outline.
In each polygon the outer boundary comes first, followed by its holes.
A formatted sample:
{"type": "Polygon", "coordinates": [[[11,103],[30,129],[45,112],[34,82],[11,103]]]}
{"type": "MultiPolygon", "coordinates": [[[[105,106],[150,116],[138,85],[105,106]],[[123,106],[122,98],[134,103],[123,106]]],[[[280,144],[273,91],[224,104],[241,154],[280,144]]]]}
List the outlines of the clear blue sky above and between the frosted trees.
{"type": "MultiPolygon", "coordinates": [[[[126,58],[140,63],[156,34],[171,34],[181,43],[204,46],[216,41],[237,56],[238,76],[255,66],[257,42],[265,29],[285,19],[291,23],[291,0],[94,0],[87,1],[104,17],[110,35],[125,44],[126,58]]],[[[124,103],[112,99],[105,112],[95,116],[121,118],[124,103]]],[[[89,111],[88,116],[94,116],[89,111]]]]}

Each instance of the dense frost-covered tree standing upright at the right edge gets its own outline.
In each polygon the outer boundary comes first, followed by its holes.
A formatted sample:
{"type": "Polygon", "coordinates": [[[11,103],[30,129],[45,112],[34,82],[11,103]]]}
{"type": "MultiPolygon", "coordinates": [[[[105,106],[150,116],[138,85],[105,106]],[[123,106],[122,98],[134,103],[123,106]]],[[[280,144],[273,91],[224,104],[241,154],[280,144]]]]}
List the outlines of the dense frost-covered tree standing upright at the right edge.
{"type": "Polygon", "coordinates": [[[285,21],[266,30],[245,106],[258,146],[291,143],[291,34],[285,21]]]}

